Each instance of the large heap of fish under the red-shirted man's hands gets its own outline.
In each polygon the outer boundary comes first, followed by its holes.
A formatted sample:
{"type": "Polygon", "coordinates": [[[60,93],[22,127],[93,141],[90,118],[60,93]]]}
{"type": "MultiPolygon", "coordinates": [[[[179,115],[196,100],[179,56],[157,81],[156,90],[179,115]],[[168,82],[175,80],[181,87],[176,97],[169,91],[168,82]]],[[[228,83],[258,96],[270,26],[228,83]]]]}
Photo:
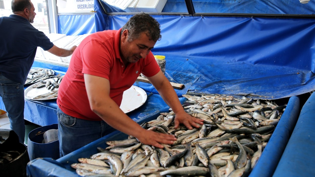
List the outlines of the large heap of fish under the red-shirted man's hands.
{"type": "MultiPolygon", "coordinates": [[[[248,176],[282,116],[285,105],[272,101],[209,94],[183,95],[184,109],[203,119],[200,128],[174,128],[174,112],[160,113],[143,128],[174,134],[163,149],[126,140],[107,141],[106,149],[72,164],[81,176],[248,176]]],[[[272,160],[272,159],[271,159],[272,160]]]]}

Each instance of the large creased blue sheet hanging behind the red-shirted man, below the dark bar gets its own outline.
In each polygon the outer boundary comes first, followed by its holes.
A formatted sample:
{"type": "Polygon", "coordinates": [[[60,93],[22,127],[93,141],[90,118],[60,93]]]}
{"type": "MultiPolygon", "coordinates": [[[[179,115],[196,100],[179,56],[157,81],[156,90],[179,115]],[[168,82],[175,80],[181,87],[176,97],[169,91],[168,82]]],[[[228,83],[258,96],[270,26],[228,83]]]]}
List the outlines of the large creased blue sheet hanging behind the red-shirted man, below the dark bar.
{"type": "MultiPolygon", "coordinates": [[[[106,29],[131,16],[108,16],[106,29]]],[[[314,19],[152,16],[162,33],[152,53],[166,70],[200,75],[191,92],[279,99],[315,89],[314,19]]]]}

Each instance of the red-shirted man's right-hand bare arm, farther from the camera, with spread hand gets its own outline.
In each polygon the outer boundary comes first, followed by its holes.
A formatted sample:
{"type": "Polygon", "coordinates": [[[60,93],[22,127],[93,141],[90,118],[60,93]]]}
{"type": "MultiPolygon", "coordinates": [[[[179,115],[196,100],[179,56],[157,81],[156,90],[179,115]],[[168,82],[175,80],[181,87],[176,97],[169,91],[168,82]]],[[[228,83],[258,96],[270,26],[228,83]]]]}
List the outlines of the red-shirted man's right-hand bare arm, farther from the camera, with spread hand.
{"type": "Polygon", "coordinates": [[[203,120],[192,117],[184,111],[184,108],[181,106],[174,88],[169,83],[169,80],[165,77],[162,71],[159,71],[152,77],[147,77],[147,79],[157,89],[165,103],[169,105],[174,111],[175,128],[177,128],[180,123],[183,123],[188,129],[192,129],[192,126],[199,128],[197,123],[203,124],[203,120]]]}

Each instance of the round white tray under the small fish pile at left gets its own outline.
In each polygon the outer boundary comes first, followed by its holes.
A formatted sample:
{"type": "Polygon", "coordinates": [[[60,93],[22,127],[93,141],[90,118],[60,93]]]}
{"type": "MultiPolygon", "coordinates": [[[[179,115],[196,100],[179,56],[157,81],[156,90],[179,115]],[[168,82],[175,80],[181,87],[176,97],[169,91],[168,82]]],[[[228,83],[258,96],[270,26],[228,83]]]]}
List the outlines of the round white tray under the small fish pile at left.
{"type": "MultiPolygon", "coordinates": [[[[40,83],[40,82],[38,82],[40,83]]],[[[33,88],[34,85],[37,83],[34,83],[33,85],[30,85],[28,88],[24,90],[24,98],[27,100],[35,100],[35,101],[43,101],[43,100],[56,100],[57,97],[55,98],[49,98],[49,99],[33,99],[35,96],[38,96],[40,94],[48,94],[51,92],[49,89],[46,87],[42,88],[33,88]]]]}

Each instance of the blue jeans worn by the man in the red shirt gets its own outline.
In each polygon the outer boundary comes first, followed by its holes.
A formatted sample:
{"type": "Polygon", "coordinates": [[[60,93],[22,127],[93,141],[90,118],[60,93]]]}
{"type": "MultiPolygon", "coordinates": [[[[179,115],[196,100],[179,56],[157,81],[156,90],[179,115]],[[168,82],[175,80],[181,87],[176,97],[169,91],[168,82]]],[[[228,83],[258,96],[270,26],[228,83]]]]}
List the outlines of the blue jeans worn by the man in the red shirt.
{"type": "Polygon", "coordinates": [[[57,108],[60,157],[69,154],[115,129],[105,121],[90,121],[65,114],[57,108]]]}

